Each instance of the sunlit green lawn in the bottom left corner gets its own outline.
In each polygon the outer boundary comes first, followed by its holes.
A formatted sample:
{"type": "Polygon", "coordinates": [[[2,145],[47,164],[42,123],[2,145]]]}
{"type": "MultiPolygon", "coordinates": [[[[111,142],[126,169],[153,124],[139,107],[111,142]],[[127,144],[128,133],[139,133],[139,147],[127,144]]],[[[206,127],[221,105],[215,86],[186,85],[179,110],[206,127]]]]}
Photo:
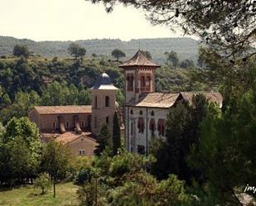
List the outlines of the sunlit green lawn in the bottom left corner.
{"type": "Polygon", "coordinates": [[[57,184],[55,199],[52,197],[52,188],[43,195],[32,185],[18,189],[0,189],[0,206],[78,206],[77,189],[72,183],[57,184]]]}

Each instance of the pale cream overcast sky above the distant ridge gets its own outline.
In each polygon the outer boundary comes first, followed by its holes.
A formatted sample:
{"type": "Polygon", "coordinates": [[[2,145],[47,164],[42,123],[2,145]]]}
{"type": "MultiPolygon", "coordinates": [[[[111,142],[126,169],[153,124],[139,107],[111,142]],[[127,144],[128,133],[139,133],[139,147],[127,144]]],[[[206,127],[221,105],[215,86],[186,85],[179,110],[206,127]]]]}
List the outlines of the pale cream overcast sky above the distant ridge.
{"type": "Polygon", "coordinates": [[[152,26],[133,7],[114,7],[85,0],[0,0],[0,36],[34,41],[182,37],[165,26],[152,26]]]}

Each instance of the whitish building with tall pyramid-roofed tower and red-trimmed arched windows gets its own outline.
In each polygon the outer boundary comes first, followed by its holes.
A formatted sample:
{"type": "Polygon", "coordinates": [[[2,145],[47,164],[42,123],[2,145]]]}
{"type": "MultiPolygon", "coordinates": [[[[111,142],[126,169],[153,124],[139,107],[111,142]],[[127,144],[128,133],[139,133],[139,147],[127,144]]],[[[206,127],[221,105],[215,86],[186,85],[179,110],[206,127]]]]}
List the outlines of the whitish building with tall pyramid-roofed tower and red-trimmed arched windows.
{"type": "MultiPolygon", "coordinates": [[[[148,154],[152,137],[165,139],[169,109],[181,99],[191,103],[196,93],[156,93],[155,72],[159,68],[141,51],[119,66],[125,86],[125,139],[128,151],[148,154]]],[[[210,102],[222,105],[220,93],[203,93],[210,102]]]]}

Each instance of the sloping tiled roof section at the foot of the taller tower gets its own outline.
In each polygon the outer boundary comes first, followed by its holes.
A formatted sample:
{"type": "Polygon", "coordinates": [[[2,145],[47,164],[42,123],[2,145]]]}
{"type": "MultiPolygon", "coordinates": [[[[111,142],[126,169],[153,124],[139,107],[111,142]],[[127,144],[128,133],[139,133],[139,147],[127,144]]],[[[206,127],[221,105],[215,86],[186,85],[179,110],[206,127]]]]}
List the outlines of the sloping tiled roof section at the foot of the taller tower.
{"type": "Polygon", "coordinates": [[[180,93],[143,93],[138,103],[132,99],[127,106],[146,108],[171,108],[180,93]]]}

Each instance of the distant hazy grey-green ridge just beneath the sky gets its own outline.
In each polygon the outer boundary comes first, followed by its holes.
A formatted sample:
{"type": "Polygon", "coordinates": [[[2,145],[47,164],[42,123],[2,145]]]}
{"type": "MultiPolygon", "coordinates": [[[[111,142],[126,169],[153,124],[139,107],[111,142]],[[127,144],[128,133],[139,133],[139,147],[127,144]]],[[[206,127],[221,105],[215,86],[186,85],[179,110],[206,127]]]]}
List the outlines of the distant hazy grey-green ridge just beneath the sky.
{"type": "MultiPolygon", "coordinates": [[[[31,41],[27,39],[16,39],[9,36],[0,36],[0,55],[11,55],[12,49],[17,44],[24,44],[34,51],[35,55],[46,57],[67,57],[67,47],[71,41],[31,41]]],[[[131,41],[120,41],[118,39],[102,40],[80,40],[75,41],[84,46],[87,55],[93,53],[97,55],[106,55],[110,57],[111,51],[115,48],[123,50],[127,58],[136,53],[140,47],[142,50],[149,50],[153,60],[157,63],[163,63],[166,60],[164,53],[175,50],[181,60],[197,60],[199,41],[191,38],[158,38],[158,39],[141,39],[131,41]]]]}

